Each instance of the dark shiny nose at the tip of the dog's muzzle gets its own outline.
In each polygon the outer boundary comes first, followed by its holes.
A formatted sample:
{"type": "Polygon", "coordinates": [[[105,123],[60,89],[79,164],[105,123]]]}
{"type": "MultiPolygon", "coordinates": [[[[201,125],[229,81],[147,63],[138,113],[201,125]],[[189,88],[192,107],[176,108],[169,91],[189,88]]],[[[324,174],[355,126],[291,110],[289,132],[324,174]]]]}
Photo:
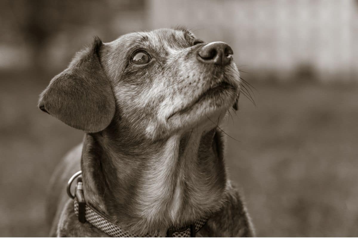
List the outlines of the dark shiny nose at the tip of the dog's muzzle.
{"type": "Polygon", "coordinates": [[[198,59],[204,63],[214,65],[228,65],[234,52],[225,42],[217,41],[204,45],[198,51],[198,59]]]}

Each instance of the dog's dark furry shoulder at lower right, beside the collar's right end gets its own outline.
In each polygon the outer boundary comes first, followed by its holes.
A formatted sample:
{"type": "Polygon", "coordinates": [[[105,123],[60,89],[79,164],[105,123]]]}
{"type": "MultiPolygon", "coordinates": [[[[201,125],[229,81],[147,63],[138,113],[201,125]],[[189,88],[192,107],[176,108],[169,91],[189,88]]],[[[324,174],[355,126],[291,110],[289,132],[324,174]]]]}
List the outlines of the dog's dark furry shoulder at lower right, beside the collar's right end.
{"type": "Polygon", "coordinates": [[[233,186],[228,186],[222,207],[213,214],[200,232],[203,237],[253,237],[251,219],[243,200],[233,186]]]}

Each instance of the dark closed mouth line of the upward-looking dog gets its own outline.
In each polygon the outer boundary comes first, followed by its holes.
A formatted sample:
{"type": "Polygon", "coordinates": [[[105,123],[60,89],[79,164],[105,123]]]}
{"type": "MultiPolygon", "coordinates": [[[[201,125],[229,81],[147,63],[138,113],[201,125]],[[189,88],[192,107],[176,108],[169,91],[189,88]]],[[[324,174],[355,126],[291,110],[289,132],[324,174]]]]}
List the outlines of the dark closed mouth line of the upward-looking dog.
{"type": "Polygon", "coordinates": [[[186,113],[188,111],[190,111],[194,105],[207,100],[208,98],[213,98],[213,97],[219,97],[220,94],[226,90],[236,90],[236,87],[231,85],[230,83],[226,82],[226,81],[222,81],[220,83],[218,83],[217,85],[209,88],[208,90],[204,91],[203,93],[201,93],[196,100],[192,101],[191,103],[189,103],[187,106],[185,106],[184,108],[178,110],[178,111],[174,111],[173,113],[171,113],[171,115],[167,118],[167,120],[169,120],[171,117],[173,117],[174,115],[177,114],[183,114],[186,113]]]}

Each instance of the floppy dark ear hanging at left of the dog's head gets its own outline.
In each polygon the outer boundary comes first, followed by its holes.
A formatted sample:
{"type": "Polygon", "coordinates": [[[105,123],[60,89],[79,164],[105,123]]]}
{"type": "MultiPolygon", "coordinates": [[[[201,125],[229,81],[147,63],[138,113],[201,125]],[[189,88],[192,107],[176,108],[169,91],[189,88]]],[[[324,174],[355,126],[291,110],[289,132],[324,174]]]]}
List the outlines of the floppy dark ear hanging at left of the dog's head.
{"type": "Polygon", "coordinates": [[[80,51],[68,68],[55,76],[41,93],[38,107],[76,129],[98,132],[115,113],[115,99],[102,69],[99,51],[102,41],[80,51]]]}

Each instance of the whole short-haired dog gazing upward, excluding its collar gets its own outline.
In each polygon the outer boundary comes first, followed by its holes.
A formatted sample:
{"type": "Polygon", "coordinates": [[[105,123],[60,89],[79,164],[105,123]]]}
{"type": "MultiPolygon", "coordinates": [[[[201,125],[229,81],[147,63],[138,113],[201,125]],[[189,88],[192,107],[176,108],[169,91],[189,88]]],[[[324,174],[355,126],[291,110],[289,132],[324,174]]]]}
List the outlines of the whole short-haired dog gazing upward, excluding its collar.
{"type": "Polygon", "coordinates": [[[78,52],[38,103],[85,132],[50,180],[50,236],[110,235],[88,217],[80,222],[77,200],[66,195],[79,170],[86,206],[126,236],[167,236],[204,217],[191,236],[254,236],[227,176],[218,127],[237,108],[241,81],[232,54],[226,43],[207,44],[180,27],[109,43],[95,37],[78,52]]]}

